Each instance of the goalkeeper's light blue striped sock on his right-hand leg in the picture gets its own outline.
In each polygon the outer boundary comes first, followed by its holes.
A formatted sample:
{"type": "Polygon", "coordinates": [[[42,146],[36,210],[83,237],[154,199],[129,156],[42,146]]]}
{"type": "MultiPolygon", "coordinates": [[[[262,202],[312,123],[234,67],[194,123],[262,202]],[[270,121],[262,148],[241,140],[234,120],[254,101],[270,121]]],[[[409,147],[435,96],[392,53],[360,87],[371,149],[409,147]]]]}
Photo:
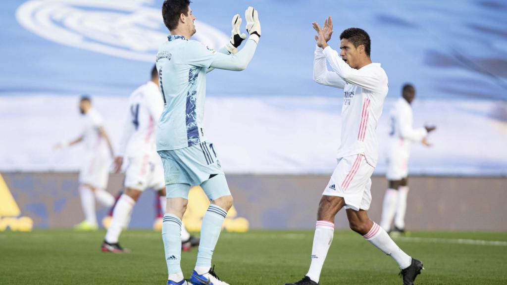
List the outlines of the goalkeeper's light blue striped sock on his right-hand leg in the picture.
{"type": "Polygon", "coordinates": [[[216,242],[219,240],[222,224],[226,216],[227,211],[223,208],[213,204],[209,205],[202,219],[201,242],[199,243],[196,267],[211,267],[211,257],[213,256],[216,242]]]}

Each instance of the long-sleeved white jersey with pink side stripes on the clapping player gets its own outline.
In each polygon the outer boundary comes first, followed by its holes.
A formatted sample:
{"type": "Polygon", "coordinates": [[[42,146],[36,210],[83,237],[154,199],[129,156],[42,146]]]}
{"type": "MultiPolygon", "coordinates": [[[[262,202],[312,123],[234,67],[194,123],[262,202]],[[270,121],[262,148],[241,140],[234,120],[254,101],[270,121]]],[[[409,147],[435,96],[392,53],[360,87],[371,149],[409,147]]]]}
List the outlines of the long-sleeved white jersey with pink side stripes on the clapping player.
{"type": "Polygon", "coordinates": [[[360,69],[350,67],[331,47],[317,47],[313,62],[315,82],[344,90],[341,142],[337,158],[363,154],[375,167],[378,160],[377,123],[388,91],[387,75],[380,63],[360,69]],[[330,63],[333,71],[327,68],[330,63]]]}

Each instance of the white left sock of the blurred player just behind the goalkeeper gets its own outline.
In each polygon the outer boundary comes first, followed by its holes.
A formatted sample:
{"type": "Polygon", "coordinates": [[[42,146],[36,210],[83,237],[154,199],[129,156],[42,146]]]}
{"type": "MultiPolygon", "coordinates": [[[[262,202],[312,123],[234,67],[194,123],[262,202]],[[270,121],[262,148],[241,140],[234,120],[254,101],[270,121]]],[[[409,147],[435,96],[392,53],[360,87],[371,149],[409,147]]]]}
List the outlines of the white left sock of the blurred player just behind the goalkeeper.
{"type": "Polygon", "coordinates": [[[116,203],[116,206],[113,209],[113,219],[111,219],[111,225],[105,234],[105,241],[109,243],[118,242],[118,238],[120,237],[122,230],[128,226],[134,204],[134,199],[126,194],[123,194],[120,199],[118,199],[118,203],[116,203]]]}

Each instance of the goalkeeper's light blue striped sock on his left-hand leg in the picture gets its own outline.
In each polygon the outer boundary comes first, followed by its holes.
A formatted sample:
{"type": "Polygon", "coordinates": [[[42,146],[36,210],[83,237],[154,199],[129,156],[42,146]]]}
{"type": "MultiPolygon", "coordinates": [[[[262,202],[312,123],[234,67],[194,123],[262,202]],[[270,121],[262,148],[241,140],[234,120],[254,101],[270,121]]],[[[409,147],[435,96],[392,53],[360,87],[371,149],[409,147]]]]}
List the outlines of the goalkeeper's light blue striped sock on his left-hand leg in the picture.
{"type": "MultiPolygon", "coordinates": [[[[182,272],[182,220],[175,215],[166,213],[162,223],[162,240],[164,241],[165,262],[169,275],[182,272]]],[[[179,280],[175,280],[179,281],[179,280]]]]}

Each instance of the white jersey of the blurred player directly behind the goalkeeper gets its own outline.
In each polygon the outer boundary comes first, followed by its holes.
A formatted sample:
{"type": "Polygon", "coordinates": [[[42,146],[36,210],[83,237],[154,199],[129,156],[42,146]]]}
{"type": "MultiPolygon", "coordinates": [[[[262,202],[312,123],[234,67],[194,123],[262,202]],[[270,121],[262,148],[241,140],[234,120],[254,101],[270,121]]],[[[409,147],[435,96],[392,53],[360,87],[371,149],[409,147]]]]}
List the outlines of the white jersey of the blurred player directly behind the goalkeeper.
{"type": "Polygon", "coordinates": [[[129,97],[119,156],[155,153],[155,127],[163,109],[159,87],[153,81],[141,85],[129,97]]]}

